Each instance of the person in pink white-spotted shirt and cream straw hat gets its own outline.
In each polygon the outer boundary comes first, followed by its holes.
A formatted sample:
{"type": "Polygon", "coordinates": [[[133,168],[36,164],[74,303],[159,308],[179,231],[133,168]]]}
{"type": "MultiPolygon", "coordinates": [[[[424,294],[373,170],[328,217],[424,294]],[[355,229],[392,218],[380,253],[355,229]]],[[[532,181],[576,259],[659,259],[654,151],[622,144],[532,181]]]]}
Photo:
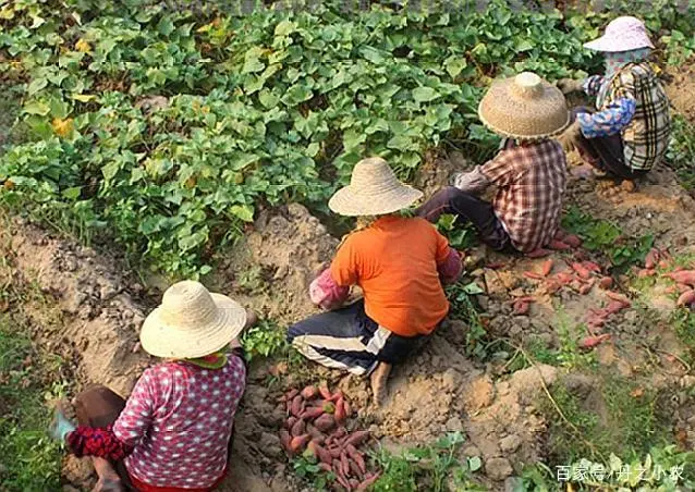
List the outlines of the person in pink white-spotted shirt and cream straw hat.
{"type": "Polygon", "coordinates": [[[179,282],[145,320],[143,348],[166,360],[127,401],[106,386],[75,398],[80,426],[57,413],[52,433],[92,456],[97,491],[203,492],[224,478],[246,366],[236,342],[254,315],[202,284],[179,282]]]}

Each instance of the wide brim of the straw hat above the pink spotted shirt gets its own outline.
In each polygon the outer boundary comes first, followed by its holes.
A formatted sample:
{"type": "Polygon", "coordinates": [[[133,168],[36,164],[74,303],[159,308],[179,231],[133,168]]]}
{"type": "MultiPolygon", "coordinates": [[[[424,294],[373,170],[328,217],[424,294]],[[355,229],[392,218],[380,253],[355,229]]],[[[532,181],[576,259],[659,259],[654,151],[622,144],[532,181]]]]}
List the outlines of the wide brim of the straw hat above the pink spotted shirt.
{"type": "Polygon", "coordinates": [[[139,333],[143,349],[155,357],[188,359],[210,355],[228,345],[244,329],[246,310],[221,294],[210,294],[218,313],[205,327],[181,330],[168,324],[156,308],[143,323],[139,333]]]}

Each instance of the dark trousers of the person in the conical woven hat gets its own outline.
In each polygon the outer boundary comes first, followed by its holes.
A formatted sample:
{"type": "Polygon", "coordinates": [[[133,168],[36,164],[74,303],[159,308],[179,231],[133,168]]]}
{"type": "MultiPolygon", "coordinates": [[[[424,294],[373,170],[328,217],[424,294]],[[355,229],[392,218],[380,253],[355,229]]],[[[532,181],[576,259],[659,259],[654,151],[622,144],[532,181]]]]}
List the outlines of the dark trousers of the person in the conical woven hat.
{"type": "Polygon", "coordinates": [[[432,223],[437,223],[442,214],[454,214],[456,224],[473,224],[480,241],[498,251],[511,244],[509,234],[495,214],[492,204],[453,186],[437,192],[417,209],[417,214],[432,223]]]}

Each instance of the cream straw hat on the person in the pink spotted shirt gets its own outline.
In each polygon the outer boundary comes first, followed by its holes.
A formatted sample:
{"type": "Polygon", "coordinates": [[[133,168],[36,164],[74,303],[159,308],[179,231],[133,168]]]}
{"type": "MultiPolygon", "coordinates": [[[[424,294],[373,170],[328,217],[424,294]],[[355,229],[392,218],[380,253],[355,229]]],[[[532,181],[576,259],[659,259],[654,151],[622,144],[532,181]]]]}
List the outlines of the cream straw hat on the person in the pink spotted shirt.
{"type": "Polygon", "coordinates": [[[145,319],[139,340],[156,357],[203,357],[229,344],[245,323],[246,310],[234,300],[186,280],[167,288],[161,305],[145,319]]]}

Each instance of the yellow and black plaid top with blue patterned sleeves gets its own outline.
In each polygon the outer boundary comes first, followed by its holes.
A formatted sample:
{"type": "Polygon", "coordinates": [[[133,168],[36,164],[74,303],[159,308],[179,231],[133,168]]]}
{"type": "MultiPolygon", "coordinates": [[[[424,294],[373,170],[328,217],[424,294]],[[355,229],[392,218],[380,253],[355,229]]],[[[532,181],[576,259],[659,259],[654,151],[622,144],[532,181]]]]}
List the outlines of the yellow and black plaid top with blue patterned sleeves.
{"type": "Polygon", "coordinates": [[[611,78],[594,76],[585,84],[597,96],[598,113],[580,119],[587,137],[621,132],[625,163],[649,171],[664,156],[671,134],[669,100],[648,63],[629,63],[611,78]]]}

